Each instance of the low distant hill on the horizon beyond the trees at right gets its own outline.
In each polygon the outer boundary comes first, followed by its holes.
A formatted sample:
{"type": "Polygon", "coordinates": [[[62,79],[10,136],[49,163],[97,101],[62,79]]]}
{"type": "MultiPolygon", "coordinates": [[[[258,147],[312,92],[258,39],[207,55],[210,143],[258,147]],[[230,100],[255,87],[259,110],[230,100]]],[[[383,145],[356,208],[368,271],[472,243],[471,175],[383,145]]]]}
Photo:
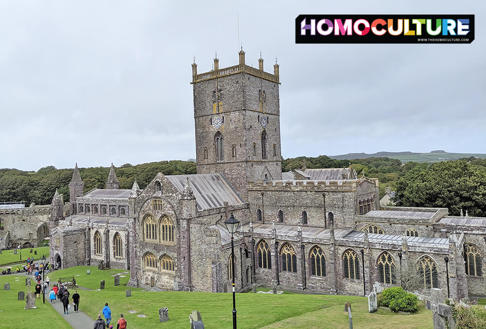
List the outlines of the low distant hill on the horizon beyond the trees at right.
{"type": "Polygon", "coordinates": [[[434,150],[429,153],[416,153],[416,152],[377,152],[372,154],[367,153],[348,153],[339,156],[329,156],[331,159],[336,160],[354,160],[365,159],[368,157],[389,157],[391,159],[399,159],[401,162],[440,162],[448,160],[457,160],[463,157],[478,157],[486,158],[486,154],[479,153],[448,153],[444,150],[434,150]]]}

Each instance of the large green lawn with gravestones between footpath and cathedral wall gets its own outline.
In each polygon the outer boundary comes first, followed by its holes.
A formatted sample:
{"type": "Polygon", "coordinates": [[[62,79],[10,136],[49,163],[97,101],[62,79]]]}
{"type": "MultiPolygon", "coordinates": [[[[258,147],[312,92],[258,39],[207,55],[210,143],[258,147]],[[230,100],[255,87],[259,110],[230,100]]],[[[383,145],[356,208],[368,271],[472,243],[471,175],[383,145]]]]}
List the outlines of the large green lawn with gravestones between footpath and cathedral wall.
{"type": "MultiPolygon", "coordinates": [[[[91,291],[78,290],[81,295],[80,310],[95,319],[101,313],[104,303],[111,308],[113,321],[120,313],[125,315],[128,328],[189,328],[189,314],[198,310],[206,328],[232,327],[232,294],[231,293],[198,293],[198,292],[142,292],[131,288],[132,296],[125,297],[124,284],[129,275],[120,278],[120,286],[114,286],[111,275],[124,270],[99,271],[95,266],[77,266],[50,274],[51,282],[59,276],[76,276],[76,282],[91,291]],[[91,274],[86,275],[90,269],[91,274]],[[105,280],[105,289],[99,288],[100,280],[105,280]],[[158,309],[169,308],[170,321],[159,323],[158,309]],[[129,311],[137,311],[130,313],[129,311]],[[146,317],[140,318],[137,315],[146,317]]],[[[124,275],[124,274],[122,274],[124,275]]],[[[260,288],[268,291],[270,288],[260,288]]],[[[238,328],[292,328],[292,329],[338,329],[347,328],[348,317],[344,304],[352,304],[353,324],[360,329],[379,328],[413,328],[432,329],[432,312],[425,310],[421,303],[420,311],[413,315],[401,315],[379,310],[368,313],[368,300],[358,296],[308,295],[308,294],[237,294],[236,310],[238,311],[238,328]]]]}

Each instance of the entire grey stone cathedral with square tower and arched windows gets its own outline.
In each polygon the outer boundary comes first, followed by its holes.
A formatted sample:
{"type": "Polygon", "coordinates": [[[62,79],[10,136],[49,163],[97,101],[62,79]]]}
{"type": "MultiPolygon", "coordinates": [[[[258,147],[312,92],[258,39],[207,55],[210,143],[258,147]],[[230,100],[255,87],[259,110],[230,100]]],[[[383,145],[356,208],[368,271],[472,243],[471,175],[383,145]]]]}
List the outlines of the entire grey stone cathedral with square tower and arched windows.
{"type": "MultiPolygon", "coordinates": [[[[130,270],[134,287],[239,291],[257,285],[325,294],[368,294],[417,274],[423,290],[457,299],[486,291],[486,218],[447,208],[380,208],[378,180],[351,168],[282,173],[279,66],[192,64],[197,174],[158,173],[121,190],[112,165],[105,189],[84,192],[76,165],[69,215],[57,191],[51,255],[63,268],[130,270]],[[241,221],[234,260],[224,227],[241,221]],[[410,269],[413,269],[410,272],[410,269]]],[[[305,167],[305,166],[304,166],[305,167]]]]}

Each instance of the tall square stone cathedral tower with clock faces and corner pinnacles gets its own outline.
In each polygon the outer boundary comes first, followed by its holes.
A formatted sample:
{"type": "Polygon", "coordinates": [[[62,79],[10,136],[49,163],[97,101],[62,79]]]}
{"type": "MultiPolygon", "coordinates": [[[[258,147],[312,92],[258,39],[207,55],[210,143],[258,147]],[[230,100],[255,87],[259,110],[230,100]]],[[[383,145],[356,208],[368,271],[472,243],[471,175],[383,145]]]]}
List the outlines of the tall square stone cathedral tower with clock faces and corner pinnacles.
{"type": "MultiPolygon", "coordinates": [[[[248,200],[248,182],[282,179],[278,64],[274,74],[239,64],[197,74],[192,64],[197,173],[224,173],[248,200]]],[[[260,56],[261,57],[261,56],[260,56]]]]}

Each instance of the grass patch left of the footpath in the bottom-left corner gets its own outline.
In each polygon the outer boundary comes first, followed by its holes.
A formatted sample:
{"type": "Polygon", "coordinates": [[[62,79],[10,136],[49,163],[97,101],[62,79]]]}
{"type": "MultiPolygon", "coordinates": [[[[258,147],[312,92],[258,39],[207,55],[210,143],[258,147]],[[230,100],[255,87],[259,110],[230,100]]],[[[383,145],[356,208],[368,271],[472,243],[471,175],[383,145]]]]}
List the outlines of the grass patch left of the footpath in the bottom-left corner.
{"type": "MultiPolygon", "coordinates": [[[[24,310],[25,300],[17,300],[19,291],[24,291],[27,296],[28,287],[25,286],[24,276],[1,276],[0,286],[0,328],[71,328],[62,316],[49,305],[47,299],[46,304],[42,304],[42,297],[40,299],[35,299],[36,309],[24,310]],[[18,277],[18,279],[15,277],[18,277]],[[7,291],[3,290],[3,285],[6,282],[10,283],[10,290],[7,291]]],[[[32,287],[31,291],[34,291],[33,288],[34,287],[32,287]]]]}

